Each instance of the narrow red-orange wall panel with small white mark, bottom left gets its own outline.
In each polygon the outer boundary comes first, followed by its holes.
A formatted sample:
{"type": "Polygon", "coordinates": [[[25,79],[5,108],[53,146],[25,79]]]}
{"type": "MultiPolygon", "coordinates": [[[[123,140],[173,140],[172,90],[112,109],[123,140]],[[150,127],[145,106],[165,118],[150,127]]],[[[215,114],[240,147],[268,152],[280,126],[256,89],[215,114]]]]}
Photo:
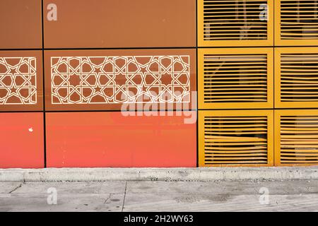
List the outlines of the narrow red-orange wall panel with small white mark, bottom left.
{"type": "Polygon", "coordinates": [[[0,113],[0,168],[44,167],[43,113],[0,113]]]}

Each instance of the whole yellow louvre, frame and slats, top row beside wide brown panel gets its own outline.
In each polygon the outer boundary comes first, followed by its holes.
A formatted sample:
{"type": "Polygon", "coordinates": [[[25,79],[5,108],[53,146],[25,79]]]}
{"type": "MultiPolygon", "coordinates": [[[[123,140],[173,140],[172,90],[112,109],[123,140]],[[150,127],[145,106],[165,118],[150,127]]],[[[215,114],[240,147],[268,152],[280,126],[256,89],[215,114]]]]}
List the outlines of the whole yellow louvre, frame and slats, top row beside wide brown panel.
{"type": "Polygon", "coordinates": [[[199,46],[273,45],[273,0],[198,0],[199,46]]]}

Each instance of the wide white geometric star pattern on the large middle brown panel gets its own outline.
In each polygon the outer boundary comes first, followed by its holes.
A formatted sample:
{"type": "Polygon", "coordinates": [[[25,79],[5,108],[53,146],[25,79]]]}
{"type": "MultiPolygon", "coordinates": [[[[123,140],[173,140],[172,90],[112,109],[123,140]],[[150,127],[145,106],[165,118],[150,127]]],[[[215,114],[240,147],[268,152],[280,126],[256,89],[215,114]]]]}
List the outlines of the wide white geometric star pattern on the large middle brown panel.
{"type": "Polygon", "coordinates": [[[52,104],[189,102],[189,58],[51,57],[52,104]]]}

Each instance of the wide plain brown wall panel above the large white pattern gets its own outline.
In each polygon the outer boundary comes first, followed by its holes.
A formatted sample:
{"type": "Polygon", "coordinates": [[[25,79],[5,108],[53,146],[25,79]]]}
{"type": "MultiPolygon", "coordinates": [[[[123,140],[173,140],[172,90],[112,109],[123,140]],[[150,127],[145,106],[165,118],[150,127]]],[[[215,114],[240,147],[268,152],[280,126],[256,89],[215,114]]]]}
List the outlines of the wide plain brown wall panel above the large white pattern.
{"type": "Polygon", "coordinates": [[[43,11],[46,48],[196,46],[195,0],[44,0],[43,11]]]}

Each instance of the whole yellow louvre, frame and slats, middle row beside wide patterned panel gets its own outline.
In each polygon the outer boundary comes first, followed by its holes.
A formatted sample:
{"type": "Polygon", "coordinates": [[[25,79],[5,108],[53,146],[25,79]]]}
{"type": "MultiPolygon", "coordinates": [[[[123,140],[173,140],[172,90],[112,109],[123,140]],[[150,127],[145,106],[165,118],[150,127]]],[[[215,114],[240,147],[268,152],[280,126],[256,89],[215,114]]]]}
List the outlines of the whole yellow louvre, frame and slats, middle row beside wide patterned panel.
{"type": "Polygon", "coordinates": [[[273,49],[199,49],[199,108],[273,107],[273,49]]]}

